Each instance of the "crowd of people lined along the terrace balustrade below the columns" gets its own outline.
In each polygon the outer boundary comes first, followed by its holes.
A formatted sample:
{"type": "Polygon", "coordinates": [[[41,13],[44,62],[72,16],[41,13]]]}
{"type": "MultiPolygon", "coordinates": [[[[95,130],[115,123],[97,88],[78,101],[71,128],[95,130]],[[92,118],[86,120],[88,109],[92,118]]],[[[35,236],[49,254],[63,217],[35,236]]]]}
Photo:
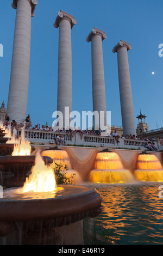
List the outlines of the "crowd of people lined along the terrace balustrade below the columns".
{"type": "MultiPolygon", "coordinates": [[[[98,130],[92,129],[92,130],[81,130],[80,127],[76,128],[76,126],[74,126],[73,128],[68,127],[66,129],[62,128],[59,129],[57,124],[54,124],[54,127],[52,126],[48,126],[46,125],[42,125],[40,126],[40,124],[36,124],[35,126],[32,126],[31,120],[30,120],[30,115],[28,115],[26,117],[26,121],[20,124],[17,124],[17,122],[15,120],[10,121],[10,118],[8,115],[5,115],[5,121],[4,121],[4,126],[8,127],[11,126],[11,131],[14,129],[18,130],[22,127],[24,127],[25,125],[25,129],[26,130],[42,130],[42,131],[49,131],[49,132],[65,132],[67,136],[69,137],[74,137],[74,135],[76,135],[76,133],[78,133],[80,135],[80,138],[83,138],[83,135],[93,135],[93,136],[103,136],[104,135],[104,131],[101,130],[101,128],[99,127],[98,130]]],[[[143,136],[137,136],[137,135],[121,135],[119,136],[117,134],[117,131],[115,130],[114,132],[110,132],[110,135],[106,136],[106,137],[112,137],[115,138],[117,143],[119,143],[119,139],[123,138],[123,139],[134,139],[134,140],[141,140],[141,141],[148,141],[149,143],[147,143],[148,148],[150,150],[157,150],[155,148],[155,142],[160,142],[161,145],[163,145],[163,138],[158,136],[156,138],[147,138],[147,137],[143,137],[143,136]],[[153,144],[154,143],[154,144],[153,144]]],[[[65,139],[63,134],[59,135],[59,138],[57,138],[57,142],[60,142],[61,144],[65,143],[65,139]]]]}

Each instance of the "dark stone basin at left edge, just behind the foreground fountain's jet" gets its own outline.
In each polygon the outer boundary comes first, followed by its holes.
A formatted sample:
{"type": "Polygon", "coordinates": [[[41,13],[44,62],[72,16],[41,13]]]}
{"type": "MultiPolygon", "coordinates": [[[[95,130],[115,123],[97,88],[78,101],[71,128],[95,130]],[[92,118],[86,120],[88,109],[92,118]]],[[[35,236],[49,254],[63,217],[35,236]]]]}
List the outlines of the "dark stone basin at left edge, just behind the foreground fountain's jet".
{"type": "MultiPolygon", "coordinates": [[[[43,157],[46,164],[53,161],[50,157],[43,157]]],[[[0,156],[0,184],[4,187],[23,186],[30,169],[35,162],[35,156],[0,156]],[[11,178],[12,176],[12,178],[11,178]],[[3,179],[3,177],[5,177],[3,179]]]]}

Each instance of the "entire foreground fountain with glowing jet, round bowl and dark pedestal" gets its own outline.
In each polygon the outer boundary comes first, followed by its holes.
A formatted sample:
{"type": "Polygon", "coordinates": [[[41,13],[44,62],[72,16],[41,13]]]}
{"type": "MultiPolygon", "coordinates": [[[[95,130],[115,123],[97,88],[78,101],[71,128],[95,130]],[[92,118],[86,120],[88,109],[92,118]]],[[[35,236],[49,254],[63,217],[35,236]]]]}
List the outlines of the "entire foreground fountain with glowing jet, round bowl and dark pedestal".
{"type": "Polygon", "coordinates": [[[82,185],[57,187],[51,166],[36,154],[23,187],[4,190],[0,200],[0,243],[5,245],[64,245],[57,227],[101,212],[101,196],[82,185]]]}

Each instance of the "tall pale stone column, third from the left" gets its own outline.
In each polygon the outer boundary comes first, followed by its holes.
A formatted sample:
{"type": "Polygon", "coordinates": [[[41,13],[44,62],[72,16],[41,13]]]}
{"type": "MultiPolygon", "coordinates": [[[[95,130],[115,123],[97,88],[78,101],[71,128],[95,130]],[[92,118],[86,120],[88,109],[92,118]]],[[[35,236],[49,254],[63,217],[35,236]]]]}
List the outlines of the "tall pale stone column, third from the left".
{"type": "Polygon", "coordinates": [[[87,42],[91,41],[93,112],[97,111],[99,117],[101,111],[105,113],[104,125],[106,125],[106,96],[102,41],[106,38],[105,32],[98,28],[93,28],[86,38],[87,42]]]}

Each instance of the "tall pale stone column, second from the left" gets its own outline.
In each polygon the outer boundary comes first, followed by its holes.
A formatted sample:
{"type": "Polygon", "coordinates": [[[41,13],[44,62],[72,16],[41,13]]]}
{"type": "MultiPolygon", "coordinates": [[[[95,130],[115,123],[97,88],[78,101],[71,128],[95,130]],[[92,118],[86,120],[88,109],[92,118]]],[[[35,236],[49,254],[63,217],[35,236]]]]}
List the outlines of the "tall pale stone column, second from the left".
{"type": "Polygon", "coordinates": [[[71,29],[76,23],[72,15],[62,10],[58,12],[54,22],[54,27],[59,27],[57,111],[63,114],[64,127],[69,125],[69,114],[72,112],[71,29]],[[69,112],[65,113],[65,107],[69,108],[69,112]]]}

